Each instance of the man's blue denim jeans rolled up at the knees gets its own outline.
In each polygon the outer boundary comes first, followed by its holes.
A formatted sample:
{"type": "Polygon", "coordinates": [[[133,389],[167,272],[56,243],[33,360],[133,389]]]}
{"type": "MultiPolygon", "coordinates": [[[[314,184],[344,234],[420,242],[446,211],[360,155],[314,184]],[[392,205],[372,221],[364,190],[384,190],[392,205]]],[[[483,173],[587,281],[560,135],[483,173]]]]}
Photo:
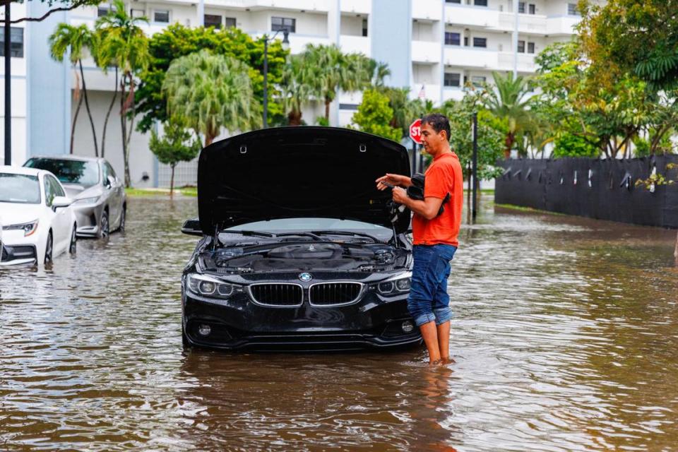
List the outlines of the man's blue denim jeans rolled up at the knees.
{"type": "Polygon", "coordinates": [[[412,257],[412,287],[408,297],[408,310],[417,326],[432,321],[441,325],[452,318],[450,296],[447,295],[447,278],[450,275],[450,261],[456,246],[415,245],[412,257]]]}

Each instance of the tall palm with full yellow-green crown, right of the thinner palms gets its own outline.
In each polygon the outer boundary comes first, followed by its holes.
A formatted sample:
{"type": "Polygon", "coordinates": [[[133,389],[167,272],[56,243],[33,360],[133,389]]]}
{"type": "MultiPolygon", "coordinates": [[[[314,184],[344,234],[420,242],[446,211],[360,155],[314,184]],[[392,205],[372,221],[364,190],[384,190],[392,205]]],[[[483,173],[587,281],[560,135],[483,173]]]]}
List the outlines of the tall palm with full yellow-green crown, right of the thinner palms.
{"type": "Polygon", "coordinates": [[[124,1],[115,0],[106,16],[97,19],[96,28],[102,39],[97,54],[100,65],[112,62],[121,73],[120,78],[120,126],[122,132],[122,154],[125,166],[125,186],[130,186],[129,141],[134,129],[136,115],[134,87],[136,74],[150,63],[148,38],[139,28],[139,23],[148,23],[145,17],[134,18],[125,8],[124,1]],[[128,89],[129,88],[129,89],[128,89]],[[129,127],[127,121],[129,119],[129,127]]]}

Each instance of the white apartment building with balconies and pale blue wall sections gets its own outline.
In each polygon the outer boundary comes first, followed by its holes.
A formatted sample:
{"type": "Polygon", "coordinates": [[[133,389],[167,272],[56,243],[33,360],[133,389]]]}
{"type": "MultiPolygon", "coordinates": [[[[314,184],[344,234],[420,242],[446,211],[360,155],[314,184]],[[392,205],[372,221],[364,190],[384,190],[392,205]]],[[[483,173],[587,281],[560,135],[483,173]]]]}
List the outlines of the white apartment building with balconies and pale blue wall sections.
{"type": "MultiPolygon", "coordinates": [[[[171,23],[204,23],[236,26],[253,37],[285,28],[290,31],[292,53],[301,52],[308,43],[335,43],[345,52],[362,52],[386,62],[391,69],[388,85],[410,88],[412,97],[424,95],[436,105],[463,97],[465,81],[492,81],[492,71],[512,71],[516,54],[518,72],[533,72],[535,54],[551,42],[569,39],[579,19],[576,0],[521,1],[514,49],[513,0],[128,0],[126,5],[133,16],[149,18],[150,23],[144,25],[148,35],[171,23]]],[[[46,7],[41,2],[25,2],[12,8],[12,16],[34,17],[46,7]]],[[[67,61],[57,63],[49,57],[47,37],[59,22],[93,26],[108,8],[109,4],[102,3],[54,13],[43,22],[21,23],[13,30],[13,42],[17,41],[12,58],[13,164],[20,165],[32,155],[69,153],[76,74],[67,61]]],[[[100,143],[114,78],[91,60],[84,64],[100,143]]],[[[331,124],[350,124],[360,100],[359,93],[341,93],[331,108],[331,124]]],[[[323,105],[309,105],[303,119],[314,124],[323,112],[323,105]]],[[[119,117],[112,114],[105,157],[121,174],[120,134],[119,117]]],[[[167,186],[169,171],[148,150],[148,139],[133,133],[132,183],[167,186]]],[[[75,153],[94,155],[84,107],[76,124],[75,153]]],[[[177,183],[194,182],[195,167],[194,162],[179,165],[177,183]]]]}

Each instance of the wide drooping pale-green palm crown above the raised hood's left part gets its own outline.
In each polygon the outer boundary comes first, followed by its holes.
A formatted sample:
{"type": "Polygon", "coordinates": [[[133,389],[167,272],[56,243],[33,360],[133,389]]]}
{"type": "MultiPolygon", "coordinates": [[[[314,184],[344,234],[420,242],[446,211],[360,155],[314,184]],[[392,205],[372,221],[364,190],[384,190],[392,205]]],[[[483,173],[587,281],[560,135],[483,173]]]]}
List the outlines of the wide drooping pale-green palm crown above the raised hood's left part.
{"type": "Polygon", "coordinates": [[[222,127],[245,131],[259,126],[261,106],[256,103],[249,66],[203,49],[174,59],[167,69],[162,93],[169,116],[186,118],[208,146],[222,127]]]}

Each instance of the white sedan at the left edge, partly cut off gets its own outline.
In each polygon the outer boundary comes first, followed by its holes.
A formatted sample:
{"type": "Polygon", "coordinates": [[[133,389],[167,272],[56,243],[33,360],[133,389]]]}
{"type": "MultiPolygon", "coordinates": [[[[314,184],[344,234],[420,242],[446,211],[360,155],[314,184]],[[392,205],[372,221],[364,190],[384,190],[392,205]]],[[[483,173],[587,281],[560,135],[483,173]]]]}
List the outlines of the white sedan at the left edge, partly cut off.
{"type": "Polygon", "coordinates": [[[49,171],[0,166],[0,266],[51,263],[76,252],[73,200],[49,171]]]}

